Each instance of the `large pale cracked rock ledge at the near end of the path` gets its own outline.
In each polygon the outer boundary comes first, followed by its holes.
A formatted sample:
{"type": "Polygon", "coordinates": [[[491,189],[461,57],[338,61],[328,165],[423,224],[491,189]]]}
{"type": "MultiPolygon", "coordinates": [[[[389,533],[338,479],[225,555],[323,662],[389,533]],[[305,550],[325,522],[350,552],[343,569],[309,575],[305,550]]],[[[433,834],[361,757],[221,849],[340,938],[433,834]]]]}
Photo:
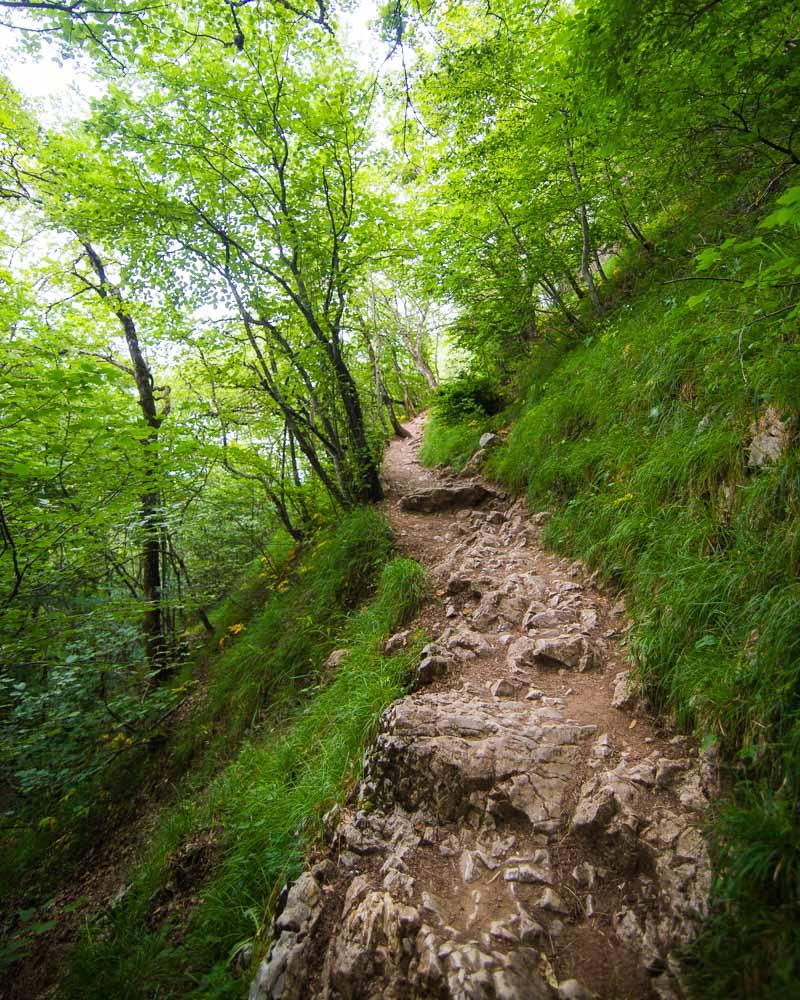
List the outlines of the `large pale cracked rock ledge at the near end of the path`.
{"type": "Polygon", "coordinates": [[[358,805],[331,835],[343,894],[326,899],[330,865],[301,876],[251,1000],[590,995],[547,974],[547,945],[604,925],[620,952],[640,956],[642,997],[680,996],[673,952],[710,880],[681,795],[704,801],[711,768],[660,751],[620,757],[595,726],[541,704],[556,699],[531,701],[504,681],[408,696],[385,713],[358,805]],[[571,802],[587,760],[596,773],[571,802]],[[320,951],[326,908],[333,931],[320,951]]]}

